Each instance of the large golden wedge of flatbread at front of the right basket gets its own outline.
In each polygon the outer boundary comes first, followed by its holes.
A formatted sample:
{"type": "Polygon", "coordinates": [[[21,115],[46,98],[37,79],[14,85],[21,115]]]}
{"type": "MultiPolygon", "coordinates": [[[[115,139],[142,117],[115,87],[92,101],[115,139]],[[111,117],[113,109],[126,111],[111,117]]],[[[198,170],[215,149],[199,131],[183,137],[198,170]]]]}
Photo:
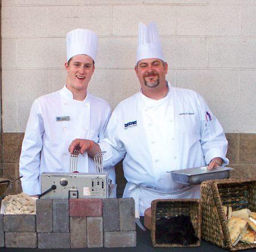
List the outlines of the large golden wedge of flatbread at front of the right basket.
{"type": "Polygon", "coordinates": [[[248,220],[232,216],[228,222],[230,240],[233,246],[239,242],[248,228],[248,220]]]}

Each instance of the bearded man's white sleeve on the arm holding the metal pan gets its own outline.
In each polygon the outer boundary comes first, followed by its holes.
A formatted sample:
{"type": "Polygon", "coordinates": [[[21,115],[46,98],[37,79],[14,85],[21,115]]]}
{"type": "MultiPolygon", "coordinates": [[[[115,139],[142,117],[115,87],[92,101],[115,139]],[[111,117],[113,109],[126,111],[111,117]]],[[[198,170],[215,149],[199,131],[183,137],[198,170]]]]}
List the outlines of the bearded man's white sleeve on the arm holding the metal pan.
{"type": "Polygon", "coordinates": [[[198,95],[197,107],[200,114],[201,148],[204,153],[205,162],[209,164],[213,158],[220,157],[223,159],[223,166],[225,166],[229,163],[229,159],[226,158],[228,141],[226,140],[224,130],[200,95],[198,95]]]}

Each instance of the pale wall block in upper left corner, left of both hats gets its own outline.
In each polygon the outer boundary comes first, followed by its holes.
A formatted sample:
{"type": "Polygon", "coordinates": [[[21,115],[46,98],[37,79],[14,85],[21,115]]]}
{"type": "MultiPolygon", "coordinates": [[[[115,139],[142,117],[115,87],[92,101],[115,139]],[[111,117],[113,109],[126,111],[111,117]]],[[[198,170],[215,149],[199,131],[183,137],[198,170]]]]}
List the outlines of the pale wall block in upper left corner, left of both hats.
{"type": "Polygon", "coordinates": [[[2,12],[2,36],[4,37],[46,37],[46,13],[44,6],[4,7],[2,12]],[[31,22],[32,20],[32,22],[31,22]]]}

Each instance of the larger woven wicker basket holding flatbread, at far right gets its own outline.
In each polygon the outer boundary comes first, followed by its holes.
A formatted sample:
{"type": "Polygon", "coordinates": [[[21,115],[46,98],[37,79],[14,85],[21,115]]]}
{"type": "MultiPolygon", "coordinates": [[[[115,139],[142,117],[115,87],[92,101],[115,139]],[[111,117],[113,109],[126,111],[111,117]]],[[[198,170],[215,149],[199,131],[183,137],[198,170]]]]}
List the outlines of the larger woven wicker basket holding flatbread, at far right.
{"type": "Polygon", "coordinates": [[[247,208],[256,212],[256,178],[216,179],[201,184],[202,238],[224,249],[252,249],[256,244],[238,242],[233,246],[223,206],[233,211],[247,208]]]}

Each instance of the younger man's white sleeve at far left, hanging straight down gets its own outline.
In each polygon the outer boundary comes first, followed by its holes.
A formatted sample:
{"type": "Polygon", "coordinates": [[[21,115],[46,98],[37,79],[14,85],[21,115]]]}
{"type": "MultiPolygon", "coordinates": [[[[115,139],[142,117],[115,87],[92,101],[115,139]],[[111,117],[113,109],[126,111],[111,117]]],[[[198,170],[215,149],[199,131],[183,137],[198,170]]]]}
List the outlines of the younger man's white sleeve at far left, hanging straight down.
{"type": "Polygon", "coordinates": [[[38,101],[32,104],[20,154],[19,172],[23,176],[22,190],[28,195],[40,194],[40,153],[43,146],[44,125],[38,101]]]}

